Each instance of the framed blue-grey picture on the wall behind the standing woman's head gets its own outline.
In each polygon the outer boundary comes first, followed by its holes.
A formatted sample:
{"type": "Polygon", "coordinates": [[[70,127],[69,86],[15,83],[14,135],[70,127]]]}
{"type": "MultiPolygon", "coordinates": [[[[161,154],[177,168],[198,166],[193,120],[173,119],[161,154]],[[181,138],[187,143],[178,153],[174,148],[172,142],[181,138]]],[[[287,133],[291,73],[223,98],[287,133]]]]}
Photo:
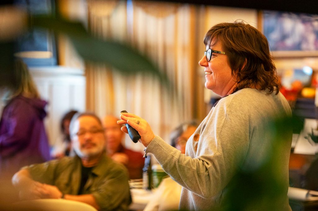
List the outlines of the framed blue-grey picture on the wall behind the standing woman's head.
{"type": "Polygon", "coordinates": [[[318,56],[318,15],[264,10],[259,17],[275,58],[318,56]]]}

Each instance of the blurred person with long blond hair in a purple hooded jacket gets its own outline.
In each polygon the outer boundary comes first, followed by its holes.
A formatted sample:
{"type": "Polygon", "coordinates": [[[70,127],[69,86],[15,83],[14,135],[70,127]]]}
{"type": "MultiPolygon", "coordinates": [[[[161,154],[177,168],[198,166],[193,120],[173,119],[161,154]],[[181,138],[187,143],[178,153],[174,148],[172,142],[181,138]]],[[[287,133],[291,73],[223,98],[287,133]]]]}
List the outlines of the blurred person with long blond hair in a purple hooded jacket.
{"type": "Polygon", "coordinates": [[[5,107],[0,121],[0,180],[10,180],[25,165],[50,159],[43,119],[46,101],[41,100],[27,66],[17,60],[13,71],[16,86],[5,87],[5,107]]]}

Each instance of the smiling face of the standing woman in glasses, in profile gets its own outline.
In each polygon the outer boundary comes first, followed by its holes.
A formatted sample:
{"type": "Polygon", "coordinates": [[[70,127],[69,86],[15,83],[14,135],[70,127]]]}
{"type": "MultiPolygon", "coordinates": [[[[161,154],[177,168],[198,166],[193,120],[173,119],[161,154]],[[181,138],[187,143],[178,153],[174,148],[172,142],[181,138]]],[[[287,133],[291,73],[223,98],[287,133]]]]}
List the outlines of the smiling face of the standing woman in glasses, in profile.
{"type": "MultiPolygon", "coordinates": [[[[211,43],[214,43],[213,41],[211,43]]],[[[214,45],[206,46],[206,49],[223,51],[220,42],[214,45]]],[[[214,93],[224,97],[232,93],[235,87],[236,78],[232,76],[232,69],[228,62],[228,57],[225,54],[212,53],[211,60],[207,61],[206,57],[199,61],[199,65],[204,67],[205,71],[205,87],[212,90],[214,93]]]]}

